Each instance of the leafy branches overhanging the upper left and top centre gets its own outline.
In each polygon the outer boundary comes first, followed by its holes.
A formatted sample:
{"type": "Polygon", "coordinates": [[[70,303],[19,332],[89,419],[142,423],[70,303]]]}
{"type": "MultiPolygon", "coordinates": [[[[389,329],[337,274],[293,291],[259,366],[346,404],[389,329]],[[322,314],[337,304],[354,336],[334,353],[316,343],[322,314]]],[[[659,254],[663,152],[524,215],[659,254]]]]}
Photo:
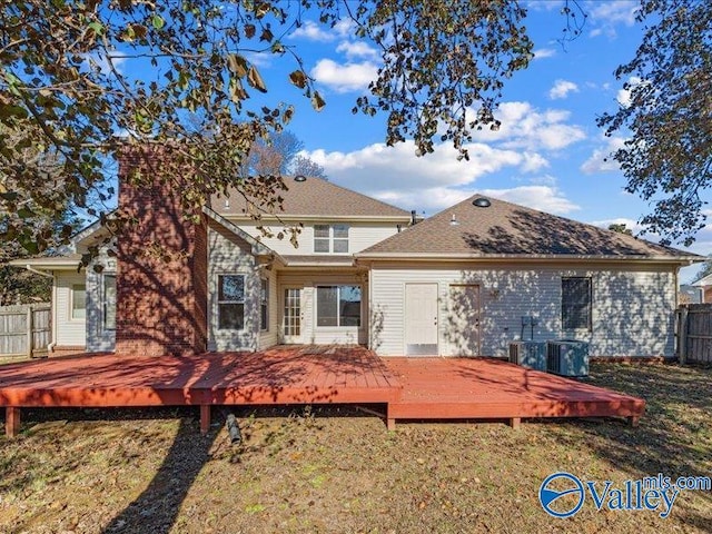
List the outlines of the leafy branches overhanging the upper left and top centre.
{"type": "Polygon", "coordinates": [[[239,170],[256,141],[281,131],[294,108],[248,100],[269,90],[250,58],[269,55],[290,62],[284,82],[315,110],[324,108],[298,51],[283,41],[304,17],[325,27],[348,20],[357,37],[379,47],[383,63],[372,95],[359,98],[354,111],[385,113],[386,141],[413,138],[419,154],[443,140],[466,157],[471,131],[498,126],[493,112],[504,82],[532,58],[521,24],[525,11],[503,0],[2,0],[0,6],[0,212],[6,214],[0,239],[32,251],[50,240],[27,206],[56,220],[67,206],[101,216],[89,199],[93,195],[101,204],[112,196],[105,165],[127,144],[171,146],[170,161],[157,166],[150,179],[180,188],[186,214],[207,195],[233,188],[258,205],[260,199],[274,204],[273,188],[261,187],[266,180],[241,179],[239,170]],[[146,69],[121,68],[132,62],[150,66],[152,79],[136,75],[146,69]],[[188,117],[199,117],[198,125],[188,117]],[[51,154],[51,172],[39,162],[28,165],[28,149],[51,154]],[[189,182],[178,184],[186,169],[189,182]]]}

